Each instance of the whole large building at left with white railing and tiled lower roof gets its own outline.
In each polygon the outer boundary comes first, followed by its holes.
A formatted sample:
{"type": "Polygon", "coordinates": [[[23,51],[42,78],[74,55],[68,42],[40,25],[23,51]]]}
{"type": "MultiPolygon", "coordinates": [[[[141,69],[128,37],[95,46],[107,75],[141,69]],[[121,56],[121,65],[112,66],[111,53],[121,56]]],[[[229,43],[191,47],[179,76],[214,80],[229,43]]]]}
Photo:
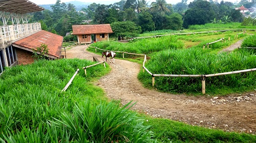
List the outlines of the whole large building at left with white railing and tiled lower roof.
{"type": "Polygon", "coordinates": [[[38,22],[28,23],[28,13],[42,10],[45,9],[27,0],[0,1],[0,74],[5,67],[33,63],[32,49],[42,43],[49,48],[49,59],[60,58],[63,38],[42,31],[38,22]]]}

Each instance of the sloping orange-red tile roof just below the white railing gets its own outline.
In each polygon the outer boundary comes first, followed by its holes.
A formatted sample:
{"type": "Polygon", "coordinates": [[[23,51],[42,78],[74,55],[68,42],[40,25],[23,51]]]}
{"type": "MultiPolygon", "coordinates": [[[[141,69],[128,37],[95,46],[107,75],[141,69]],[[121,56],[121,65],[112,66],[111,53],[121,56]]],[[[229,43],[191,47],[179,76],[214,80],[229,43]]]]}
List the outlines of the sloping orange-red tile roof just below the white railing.
{"type": "Polygon", "coordinates": [[[49,48],[49,55],[59,58],[61,55],[61,46],[62,46],[63,37],[41,30],[37,33],[34,33],[28,37],[25,37],[21,40],[14,42],[13,44],[32,49],[39,47],[42,43],[46,44],[49,48]]]}

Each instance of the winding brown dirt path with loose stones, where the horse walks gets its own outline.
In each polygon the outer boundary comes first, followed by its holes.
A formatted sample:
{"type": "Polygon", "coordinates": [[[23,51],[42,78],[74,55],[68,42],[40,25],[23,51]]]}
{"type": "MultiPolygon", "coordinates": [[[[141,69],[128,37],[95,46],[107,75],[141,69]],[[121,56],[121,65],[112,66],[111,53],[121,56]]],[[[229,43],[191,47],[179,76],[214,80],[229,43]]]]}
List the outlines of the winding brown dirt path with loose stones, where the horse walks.
{"type": "MultiPolygon", "coordinates": [[[[67,50],[67,58],[93,60],[101,56],[80,45],[67,50]]],[[[122,104],[137,102],[133,109],[156,118],[172,119],[207,128],[256,133],[256,91],[222,97],[190,97],[161,93],[143,88],[137,75],[141,65],[115,59],[108,64],[112,71],[102,77],[99,85],[110,99],[122,104]],[[114,80],[113,80],[114,79],[114,80]]]]}

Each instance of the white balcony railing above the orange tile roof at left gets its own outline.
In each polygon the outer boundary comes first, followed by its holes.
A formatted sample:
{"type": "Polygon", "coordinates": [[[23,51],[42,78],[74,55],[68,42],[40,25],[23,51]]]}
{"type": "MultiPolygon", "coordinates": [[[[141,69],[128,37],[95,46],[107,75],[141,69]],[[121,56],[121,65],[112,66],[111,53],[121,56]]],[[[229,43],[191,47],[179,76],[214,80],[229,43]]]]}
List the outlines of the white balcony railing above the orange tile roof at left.
{"type": "Polygon", "coordinates": [[[22,38],[41,30],[41,23],[0,26],[0,44],[22,38]]]}

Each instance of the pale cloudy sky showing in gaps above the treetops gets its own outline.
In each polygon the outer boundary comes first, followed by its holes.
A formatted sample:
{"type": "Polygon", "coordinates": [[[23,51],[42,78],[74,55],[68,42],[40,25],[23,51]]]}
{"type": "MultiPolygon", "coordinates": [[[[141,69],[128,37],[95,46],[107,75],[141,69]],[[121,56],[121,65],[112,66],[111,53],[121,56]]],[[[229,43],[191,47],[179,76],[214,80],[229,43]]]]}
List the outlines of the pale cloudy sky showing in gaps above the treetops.
{"type": "MultiPolygon", "coordinates": [[[[56,3],[56,0],[28,0],[30,2],[33,2],[37,5],[46,5],[46,4],[55,4],[56,3]]],[[[121,0],[100,0],[98,2],[95,2],[94,0],[60,0],[61,3],[64,2],[71,2],[71,1],[81,1],[81,2],[86,2],[86,3],[96,3],[96,4],[104,4],[104,3],[107,3],[107,4],[113,4],[113,3],[116,3],[116,2],[120,2],[121,0]]],[[[193,2],[194,0],[188,0],[187,2],[193,2]]],[[[219,2],[221,0],[218,0],[219,2]]],[[[238,0],[224,0],[224,2],[236,2],[238,0]]],[[[239,0],[240,1],[240,0],[239,0]]],[[[154,0],[147,0],[147,2],[155,2],[154,0]]],[[[181,0],[166,0],[166,2],[168,4],[177,4],[179,2],[181,2],[181,0]]],[[[149,4],[150,4],[149,3],[149,4]]]]}

